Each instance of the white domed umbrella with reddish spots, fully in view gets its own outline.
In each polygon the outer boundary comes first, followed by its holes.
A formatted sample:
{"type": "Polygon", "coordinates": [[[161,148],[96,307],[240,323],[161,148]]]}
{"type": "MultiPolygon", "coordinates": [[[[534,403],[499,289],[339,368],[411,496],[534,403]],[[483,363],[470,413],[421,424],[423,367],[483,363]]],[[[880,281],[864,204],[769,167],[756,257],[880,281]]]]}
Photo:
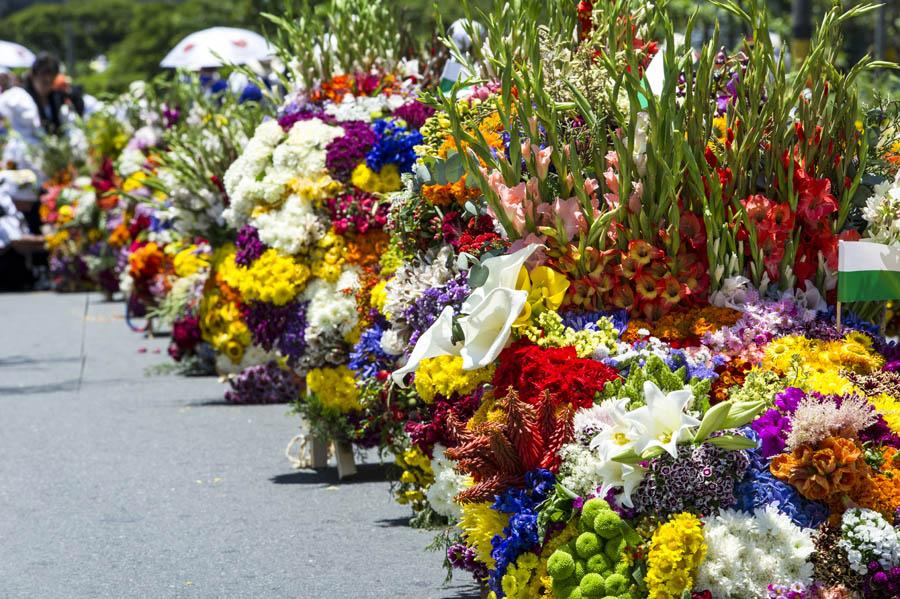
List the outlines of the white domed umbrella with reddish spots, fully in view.
{"type": "Polygon", "coordinates": [[[195,31],[172,48],[161,67],[190,69],[246,64],[272,55],[269,43],[258,33],[234,27],[211,27],[195,31]]]}

